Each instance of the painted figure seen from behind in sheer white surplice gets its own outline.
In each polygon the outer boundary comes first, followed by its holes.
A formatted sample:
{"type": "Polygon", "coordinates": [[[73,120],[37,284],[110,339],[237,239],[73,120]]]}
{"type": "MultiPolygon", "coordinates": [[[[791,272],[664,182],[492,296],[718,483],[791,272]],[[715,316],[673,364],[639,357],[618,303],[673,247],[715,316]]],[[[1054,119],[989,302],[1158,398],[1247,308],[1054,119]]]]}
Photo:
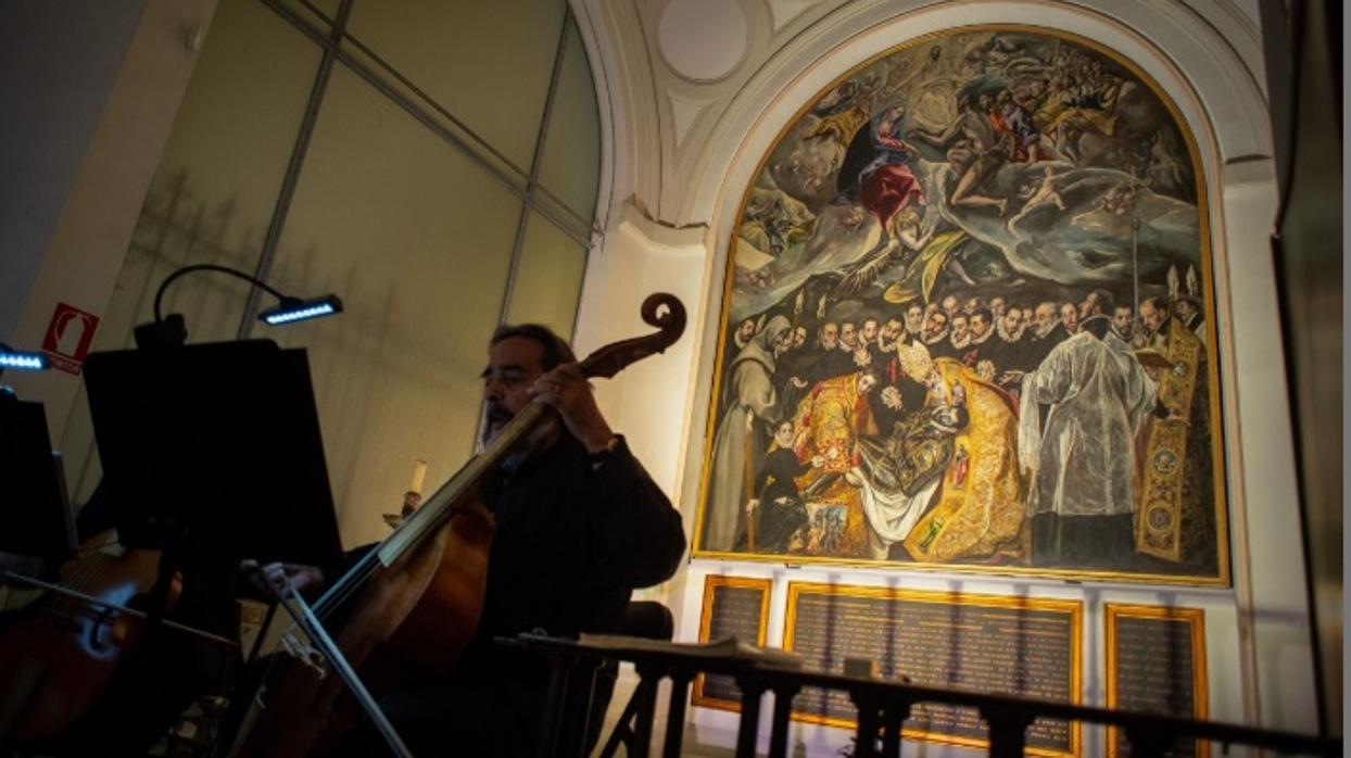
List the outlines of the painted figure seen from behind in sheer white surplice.
{"type": "Polygon", "coordinates": [[[1155,411],[1156,385],[1106,316],[1023,377],[1019,461],[1035,470],[1028,495],[1032,563],[1128,567],[1133,555],[1136,432],[1155,411]],[[1038,404],[1050,405],[1040,430],[1038,404]]]}

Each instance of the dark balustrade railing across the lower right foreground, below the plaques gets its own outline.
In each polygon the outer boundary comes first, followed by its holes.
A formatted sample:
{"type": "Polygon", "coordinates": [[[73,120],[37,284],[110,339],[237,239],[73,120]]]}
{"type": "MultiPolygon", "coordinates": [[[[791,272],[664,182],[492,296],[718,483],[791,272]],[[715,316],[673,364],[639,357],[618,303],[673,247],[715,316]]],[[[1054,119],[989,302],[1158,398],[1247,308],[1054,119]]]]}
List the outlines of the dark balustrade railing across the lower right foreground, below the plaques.
{"type": "Polygon", "coordinates": [[[1109,711],[1066,703],[896,684],[867,677],[774,667],[754,657],[708,653],[697,646],[666,646],[642,639],[634,639],[630,645],[615,642],[588,645],[531,635],[499,642],[547,655],[553,662],[540,755],[585,754],[586,735],[584,732],[585,724],[590,720],[592,685],[594,673],[604,661],[627,661],[634,663],[638,670],[639,684],[634,696],[638,703],[635,723],[620,724],[620,727],[632,730],[634,739],[628,744],[628,755],[636,757],[647,755],[651,744],[657,685],[662,678],[671,680],[662,755],[676,757],[681,754],[685,709],[689,700],[688,690],[690,682],[700,673],[730,676],[740,688],[738,758],[755,755],[761,699],[766,692],[774,693],[769,755],[770,758],[781,758],[788,754],[793,697],[808,686],[848,693],[858,709],[855,755],[859,758],[900,755],[901,724],[909,716],[911,708],[921,703],[943,703],[979,712],[989,728],[989,754],[998,758],[1023,755],[1024,747],[1027,747],[1027,727],[1035,719],[1104,724],[1123,730],[1131,743],[1131,755],[1135,757],[1161,755],[1178,740],[1250,746],[1288,755],[1342,755],[1340,739],[1220,722],[1109,711]]]}

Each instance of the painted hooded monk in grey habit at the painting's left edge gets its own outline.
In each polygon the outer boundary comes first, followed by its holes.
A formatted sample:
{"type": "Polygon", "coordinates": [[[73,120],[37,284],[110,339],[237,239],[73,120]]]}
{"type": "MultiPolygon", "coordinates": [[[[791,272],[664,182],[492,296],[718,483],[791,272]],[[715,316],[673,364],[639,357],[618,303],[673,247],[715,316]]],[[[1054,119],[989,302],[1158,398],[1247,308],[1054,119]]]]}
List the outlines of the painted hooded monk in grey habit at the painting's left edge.
{"type": "Polygon", "coordinates": [[[746,504],[754,472],[769,449],[780,420],[774,392],[774,359],[785,335],[792,334],[785,316],[774,316],[742,347],[723,376],[723,419],[713,438],[712,481],[704,505],[705,550],[732,550],[746,524],[746,504]]]}

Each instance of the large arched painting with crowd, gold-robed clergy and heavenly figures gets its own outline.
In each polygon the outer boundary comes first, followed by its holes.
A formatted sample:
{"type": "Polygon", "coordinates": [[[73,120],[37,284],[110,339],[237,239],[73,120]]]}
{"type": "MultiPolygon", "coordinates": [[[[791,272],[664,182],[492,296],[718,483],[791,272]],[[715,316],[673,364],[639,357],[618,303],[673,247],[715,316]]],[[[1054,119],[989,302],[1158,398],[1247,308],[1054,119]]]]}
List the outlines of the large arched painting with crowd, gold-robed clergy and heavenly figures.
{"type": "Polygon", "coordinates": [[[1128,61],[988,27],[866,62],[744,193],[698,554],[1227,584],[1210,265],[1128,61]]]}

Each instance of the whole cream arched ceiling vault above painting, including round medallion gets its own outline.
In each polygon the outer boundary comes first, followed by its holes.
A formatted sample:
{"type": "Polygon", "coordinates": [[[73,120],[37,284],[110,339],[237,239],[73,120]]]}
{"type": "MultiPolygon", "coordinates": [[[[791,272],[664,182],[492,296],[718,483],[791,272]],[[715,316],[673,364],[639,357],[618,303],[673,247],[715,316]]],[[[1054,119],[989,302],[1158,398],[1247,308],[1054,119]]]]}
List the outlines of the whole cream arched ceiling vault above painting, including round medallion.
{"type": "MultiPolygon", "coordinates": [[[[1216,130],[1221,162],[1271,153],[1255,0],[573,0],[573,7],[603,111],[603,228],[626,205],[657,227],[707,227],[721,185],[734,178],[730,168],[747,162],[740,151],[763,149],[747,138],[777,132],[811,96],[800,91],[804,81],[824,86],[921,31],[982,22],[1069,27],[1109,45],[1101,38],[1133,39],[1155,51],[1155,78],[1186,81],[1200,115],[1227,124],[1216,130]],[[767,123],[773,119],[778,123],[767,123]]],[[[1148,70],[1148,61],[1138,62],[1148,70]]],[[[1185,95],[1173,93],[1179,104],[1185,95]]]]}

